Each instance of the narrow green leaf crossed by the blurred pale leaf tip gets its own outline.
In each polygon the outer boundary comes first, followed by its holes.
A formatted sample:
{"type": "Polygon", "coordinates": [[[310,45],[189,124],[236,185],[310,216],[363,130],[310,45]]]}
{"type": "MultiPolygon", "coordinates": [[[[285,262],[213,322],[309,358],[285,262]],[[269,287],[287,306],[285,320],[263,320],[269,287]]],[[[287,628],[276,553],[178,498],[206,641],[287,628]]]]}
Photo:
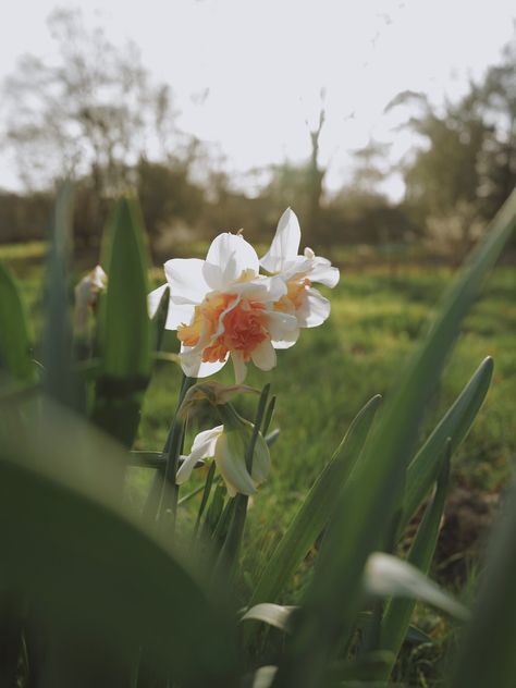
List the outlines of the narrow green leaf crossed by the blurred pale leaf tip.
{"type": "MultiPolygon", "coordinates": [[[[439,527],[444,511],[450,479],[450,450],[451,447],[449,446],[446,450],[447,456],[445,456],[439,475],[435,494],[427,506],[407,555],[407,562],[416,566],[423,574],[428,574],[430,569],[438,542],[439,527]]],[[[397,656],[407,635],[414,606],[414,600],[396,598],[392,599],[385,607],[380,628],[381,649],[392,652],[393,659],[397,656]]],[[[386,679],[392,671],[393,664],[394,662],[390,666],[386,666],[385,672],[378,678],[386,679]]]]}

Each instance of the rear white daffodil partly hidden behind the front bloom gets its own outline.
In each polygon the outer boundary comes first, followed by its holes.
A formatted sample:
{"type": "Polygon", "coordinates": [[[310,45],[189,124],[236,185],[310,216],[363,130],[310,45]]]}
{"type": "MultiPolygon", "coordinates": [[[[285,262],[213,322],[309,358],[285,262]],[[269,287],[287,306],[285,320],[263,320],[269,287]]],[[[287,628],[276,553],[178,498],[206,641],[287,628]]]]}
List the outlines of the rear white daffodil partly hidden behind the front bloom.
{"type": "Polygon", "coordinates": [[[288,331],[282,341],[273,341],[275,348],[288,348],[296,343],[299,328],[315,328],[322,324],[330,315],[330,302],[311,285],[319,282],[334,287],[340,278],[337,268],[327,258],[316,256],[311,248],[305,248],[299,256],[300,229],[295,212],[290,208],[281,216],[269,250],[260,265],[270,274],[280,277],[286,284],[284,294],[275,304],[275,309],[295,316],[297,328],[288,331]]]}

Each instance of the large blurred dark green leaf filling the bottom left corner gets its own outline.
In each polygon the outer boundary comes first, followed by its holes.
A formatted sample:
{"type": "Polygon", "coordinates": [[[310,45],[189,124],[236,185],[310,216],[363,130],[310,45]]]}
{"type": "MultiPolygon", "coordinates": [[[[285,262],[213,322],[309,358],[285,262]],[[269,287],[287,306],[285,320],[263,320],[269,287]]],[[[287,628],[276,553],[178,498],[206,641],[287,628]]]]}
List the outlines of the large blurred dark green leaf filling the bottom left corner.
{"type": "Polygon", "coordinates": [[[234,621],[123,505],[124,460],[50,405],[44,427],[12,433],[0,447],[2,586],[26,593],[76,648],[94,634],[113,661],[131,663],[144,644],[163,678],[233,686],[234,621]]]}

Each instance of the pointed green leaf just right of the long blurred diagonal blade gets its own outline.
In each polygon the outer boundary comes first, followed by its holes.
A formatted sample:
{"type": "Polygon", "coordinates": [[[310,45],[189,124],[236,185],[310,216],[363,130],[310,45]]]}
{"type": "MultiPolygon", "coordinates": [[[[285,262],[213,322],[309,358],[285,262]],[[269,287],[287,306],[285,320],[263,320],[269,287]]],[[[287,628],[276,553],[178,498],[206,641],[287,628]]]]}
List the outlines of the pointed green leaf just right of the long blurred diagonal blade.
{"type": "Polygon", "coordinates": [[[400,533],[419,508],[439,475],[440,457],[446,438],[452,453],[467,435],[486,398],[493,374],[493,359],[488,356],[449,408],[441,421],[409,464],[406,475],[403,515],[400,533]]]}

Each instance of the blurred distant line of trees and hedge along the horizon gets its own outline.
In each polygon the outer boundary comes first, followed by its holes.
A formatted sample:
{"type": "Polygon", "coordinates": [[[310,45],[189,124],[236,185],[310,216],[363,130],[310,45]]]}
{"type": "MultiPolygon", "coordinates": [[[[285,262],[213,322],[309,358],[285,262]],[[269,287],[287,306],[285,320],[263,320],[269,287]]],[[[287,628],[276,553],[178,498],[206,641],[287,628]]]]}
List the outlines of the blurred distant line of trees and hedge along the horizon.
{"type": "Polygon", "coordinates": [[[56,184],[71,177],[79,249],[96,247],[114,196],[132,186],[157,254],[221,229],[243,226],[265,239],[287,205],[312,245],[425,241],[462,253],[516,185],[516,37],[459,101],[435,108],[407,91],[388,106],[408,112],[404,126],[415,140],[395,168],[389,147],[371,140],[355,151],[352,180],[330,195],[319,161],[321,108],[307,162],[257,171],[266,181],[251,196],[177,128],[170,89],[152,83],[134,46],[115,48],[76,10],[56,11],[49,27],[59,60],[25,57],[3,86],[0,143],[25,191],[0,191],[0,242],[45,236],[56,184]],[[398,204],[380,191],[393,171],[406,187],[398,204]]]}

